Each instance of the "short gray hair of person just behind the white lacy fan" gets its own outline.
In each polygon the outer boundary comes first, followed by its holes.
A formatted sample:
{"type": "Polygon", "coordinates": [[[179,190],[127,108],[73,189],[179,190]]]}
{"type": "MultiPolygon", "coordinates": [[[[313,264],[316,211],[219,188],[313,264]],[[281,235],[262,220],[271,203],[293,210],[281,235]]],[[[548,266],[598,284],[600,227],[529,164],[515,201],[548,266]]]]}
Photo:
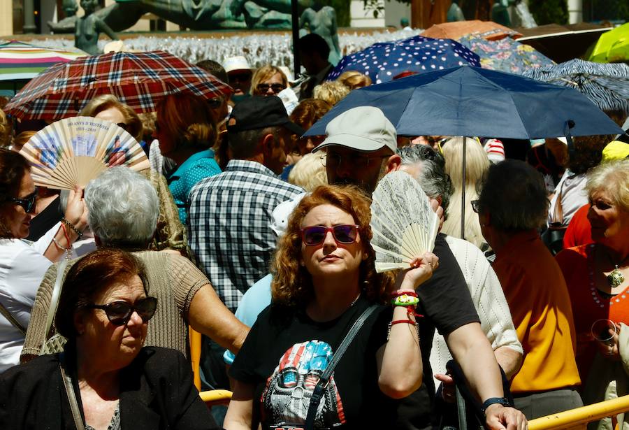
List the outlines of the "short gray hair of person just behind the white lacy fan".
{"type": "MultiPolygon", "coordinates": [[[[397,154],[402,159],[403,166],[417,165],[419,178],[415,180],[424,189],[431,199],[441,198],[441,206],[444,209],[444,218],[447,218],[447,208],[450,196],[454,192],[452,180],[445,173],[445,160],[443,156],[426,145],[409,145],[398,148],[397,154]]],[[[415,175],[414,175],[415,176],[415,175]]]]}

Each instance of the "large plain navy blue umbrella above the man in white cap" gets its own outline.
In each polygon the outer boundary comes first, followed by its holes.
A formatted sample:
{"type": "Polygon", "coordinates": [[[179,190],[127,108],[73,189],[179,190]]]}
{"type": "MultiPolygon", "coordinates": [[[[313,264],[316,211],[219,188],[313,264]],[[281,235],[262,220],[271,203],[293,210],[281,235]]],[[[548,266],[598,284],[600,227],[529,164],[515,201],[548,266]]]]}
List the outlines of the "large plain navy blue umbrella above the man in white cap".
{"type": "Polygon", "coordinates": [[[458,66],[354,89],[306,136],[326,134],[328,122],[356,106],[382,109],[400,136],[536,139],[623,133],[576,89],[458,66]]]}

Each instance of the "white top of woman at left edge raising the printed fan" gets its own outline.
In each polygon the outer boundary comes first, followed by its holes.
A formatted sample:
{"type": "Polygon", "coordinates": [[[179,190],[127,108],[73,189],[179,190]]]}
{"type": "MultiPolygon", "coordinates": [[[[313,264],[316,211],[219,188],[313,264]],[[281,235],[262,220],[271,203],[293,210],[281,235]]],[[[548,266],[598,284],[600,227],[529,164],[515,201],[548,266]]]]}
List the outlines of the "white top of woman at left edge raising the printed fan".
{"type": "MultiPolygon", "coordinates": [[[[0,239],[0,302],[24,329],[52,262],[20,239],[0,239]]],[[[24,335],[0,314],[0,373],[20,362],[24,335]]]]}

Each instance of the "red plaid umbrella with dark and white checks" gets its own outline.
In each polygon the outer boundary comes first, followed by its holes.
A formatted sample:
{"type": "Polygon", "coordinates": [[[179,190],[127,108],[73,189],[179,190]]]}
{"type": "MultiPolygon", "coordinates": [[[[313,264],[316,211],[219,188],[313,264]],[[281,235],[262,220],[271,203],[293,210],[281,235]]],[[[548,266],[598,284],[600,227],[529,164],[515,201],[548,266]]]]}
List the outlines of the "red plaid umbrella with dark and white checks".
{"type": "Polygon", "coordinates": [[[95,96],[113,94],[136,112],[154,112],[167,94],[212,99],[231,93],[214,75],[164,51],[110,52],[50,67],[6,105],[18,118],[60,120],[78,114],[95,96]]]}

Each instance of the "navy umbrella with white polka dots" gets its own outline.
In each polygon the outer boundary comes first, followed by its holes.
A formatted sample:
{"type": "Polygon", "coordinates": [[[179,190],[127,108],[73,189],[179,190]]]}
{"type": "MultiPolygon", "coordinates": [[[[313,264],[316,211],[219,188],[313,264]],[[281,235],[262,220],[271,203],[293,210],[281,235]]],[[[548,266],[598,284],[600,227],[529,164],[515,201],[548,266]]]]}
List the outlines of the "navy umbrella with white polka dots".
{"type": "Polygon", "coordinates": [[[374,43],[362,51],[343,57],[328,80],[355,70],[365,73],[374,83],[384,83],[405,71],[423,73],[454,66],[480,66],[478,55],[451,39],[414,36],[392,42],[374,43]]]}

